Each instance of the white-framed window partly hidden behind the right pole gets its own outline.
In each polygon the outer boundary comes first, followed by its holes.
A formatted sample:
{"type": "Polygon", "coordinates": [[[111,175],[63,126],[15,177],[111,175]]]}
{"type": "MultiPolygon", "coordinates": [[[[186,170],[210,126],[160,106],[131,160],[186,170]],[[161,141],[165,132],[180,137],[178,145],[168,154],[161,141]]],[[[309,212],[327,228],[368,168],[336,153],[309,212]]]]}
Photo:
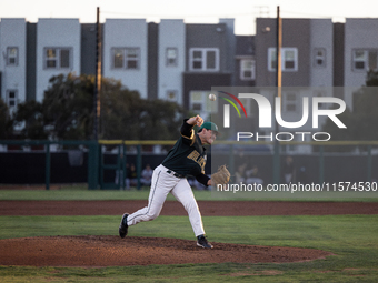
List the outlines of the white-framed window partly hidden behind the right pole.
{"type": "MultiPolygon", "coordinates": [[[[268,70],[276,71],[277,64],[277,49],[268,49],[268,70]]],[[[281,48],[281,69],[282,71],[298,71],[298,49],[297,48],[281,48]]]]}

